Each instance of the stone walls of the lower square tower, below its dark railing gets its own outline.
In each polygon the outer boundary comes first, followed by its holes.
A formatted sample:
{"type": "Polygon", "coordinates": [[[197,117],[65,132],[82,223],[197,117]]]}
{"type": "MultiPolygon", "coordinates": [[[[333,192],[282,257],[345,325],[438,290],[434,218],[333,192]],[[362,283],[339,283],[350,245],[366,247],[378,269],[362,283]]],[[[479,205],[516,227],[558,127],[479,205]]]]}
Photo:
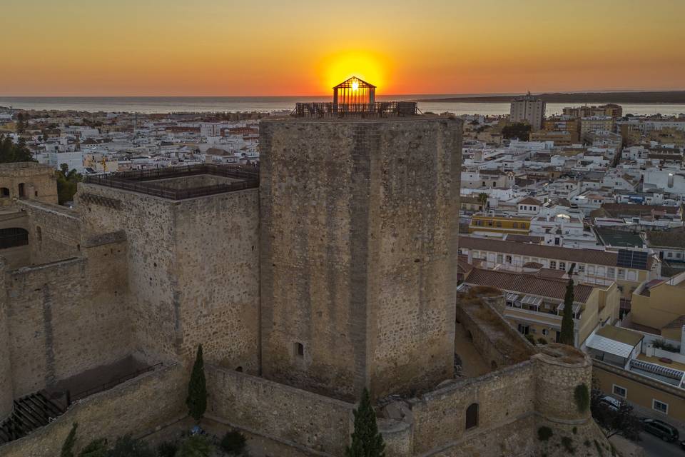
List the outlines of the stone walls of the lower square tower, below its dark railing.
{"type": "Polygon", "coordinates": [[[149,361],[205,361],[258,373],[258,189],[171,201],[80,184],[84,232],[128,238],[131,321],[149,361]]]}

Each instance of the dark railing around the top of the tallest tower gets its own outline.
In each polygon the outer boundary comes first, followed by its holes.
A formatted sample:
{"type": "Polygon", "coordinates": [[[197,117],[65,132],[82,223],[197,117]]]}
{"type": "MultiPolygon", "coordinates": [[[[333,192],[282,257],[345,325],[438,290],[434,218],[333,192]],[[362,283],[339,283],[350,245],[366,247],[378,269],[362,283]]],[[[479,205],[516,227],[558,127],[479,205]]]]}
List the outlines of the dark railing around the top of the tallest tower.
{"type": "Polygon", "coordinates": [[[415,101],[377,101],[375,103],[334,104],[298,103],[293,116],[311,118],[381,118],[392,116],[415,116],[418,105],[415,101]]]}

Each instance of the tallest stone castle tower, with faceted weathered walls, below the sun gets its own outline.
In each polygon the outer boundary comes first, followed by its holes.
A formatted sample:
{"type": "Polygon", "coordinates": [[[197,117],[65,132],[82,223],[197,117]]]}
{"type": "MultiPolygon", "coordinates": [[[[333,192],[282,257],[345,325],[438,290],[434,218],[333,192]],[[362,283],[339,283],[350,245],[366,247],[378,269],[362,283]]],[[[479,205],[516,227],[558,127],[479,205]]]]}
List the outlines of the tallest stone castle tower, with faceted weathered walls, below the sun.
{"type": "Polygon", "coordinates": [[[462,123],[334,105],[260,123],[262,374],[346,400],[436,386],[454,368],[462,123]]]}

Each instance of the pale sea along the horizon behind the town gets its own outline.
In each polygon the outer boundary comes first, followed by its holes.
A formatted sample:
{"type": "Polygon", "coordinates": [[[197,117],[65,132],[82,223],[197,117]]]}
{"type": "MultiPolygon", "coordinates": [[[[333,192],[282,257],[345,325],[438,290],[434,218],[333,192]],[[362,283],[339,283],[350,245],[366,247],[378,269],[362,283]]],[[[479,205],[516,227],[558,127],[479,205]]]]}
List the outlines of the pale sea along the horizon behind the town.
{"type": "MultiPolygon", "coordinates": [[[[474,94],[479,96],[482,94],[474,94]]],[[[431,98],[457,96],[450,94],[430,95],[387,95],[377,96],[377,101],[384,100],[424,100],[419,102],[423,113],[436,114],[450,112],[453,114],[481,114],[497,116],[509,114],[508,103],[471,103],[467,101],[430,101],[431,98]]],[[[463,96],[463,95],[459,95],[463,96]]],[[[184,97],[27,97],[0,96],[0,106],[15,109],[37,110],[74,110],[132,112],[141,114],[181,113],[181,112],[273,112],[291,110],[298,101],[330,101],[330,96],[184,96],[184,97]]],[[[603,102],[587,103],[588,105],[603,102]]],[[[578,106],[579,103],[548,103],[547,115],[561,114],[564,106],[578,106]]],[[[685,114],[685,104],[621,104],[624,114],[636,115],[677,115],[685,114]]]]}

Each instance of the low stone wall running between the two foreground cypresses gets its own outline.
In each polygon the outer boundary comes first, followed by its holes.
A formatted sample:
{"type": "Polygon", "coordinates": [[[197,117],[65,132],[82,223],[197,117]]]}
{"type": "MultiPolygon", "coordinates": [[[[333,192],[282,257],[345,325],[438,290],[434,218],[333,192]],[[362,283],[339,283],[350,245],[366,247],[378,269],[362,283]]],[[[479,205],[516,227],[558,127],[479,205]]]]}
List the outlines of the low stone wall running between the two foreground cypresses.
{"type": "Polygon", "coordinates": [[[342,456],[352,433],[350,403],[205,366],[208,416],[276,441],[342,456]]]}

